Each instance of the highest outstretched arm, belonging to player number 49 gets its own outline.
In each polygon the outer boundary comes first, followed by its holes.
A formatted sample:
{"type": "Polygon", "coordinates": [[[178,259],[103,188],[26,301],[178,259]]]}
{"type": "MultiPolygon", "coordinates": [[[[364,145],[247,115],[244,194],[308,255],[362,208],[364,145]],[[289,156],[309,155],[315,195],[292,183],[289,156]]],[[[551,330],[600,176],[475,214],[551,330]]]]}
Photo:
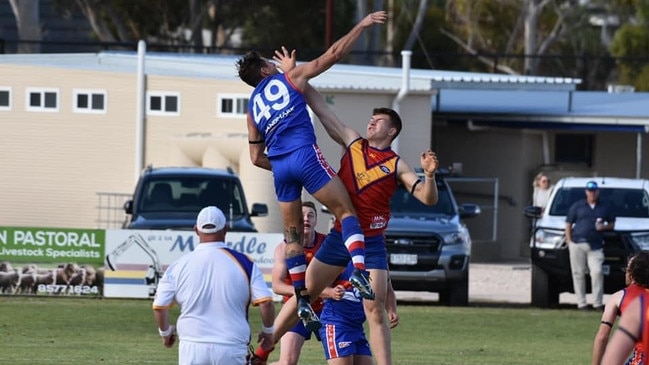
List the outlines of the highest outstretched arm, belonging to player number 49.
{"type": "Polygon", "coordinates": [[[304,86],[309,79],[323,73],[351,51],[352,46],[365,28],[369,28],[374,24],[383,24],[387,18],[388,13],[385,11],[369,14],[356,24],[349,33],[332,44],[323,55],[288,71],[288,77],[300,90],[304,90],[304,86]]]}

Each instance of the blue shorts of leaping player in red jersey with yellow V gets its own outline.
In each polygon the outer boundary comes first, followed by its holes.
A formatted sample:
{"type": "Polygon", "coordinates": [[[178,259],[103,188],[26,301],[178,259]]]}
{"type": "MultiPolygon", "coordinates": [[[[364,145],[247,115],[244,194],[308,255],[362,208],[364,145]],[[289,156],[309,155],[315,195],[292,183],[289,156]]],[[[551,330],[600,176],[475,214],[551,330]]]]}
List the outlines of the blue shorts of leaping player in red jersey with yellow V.
{"type": "MultiPolygon", "coordinates": [[[[318,261],[327,265],[345,267],[351,260],[343,242],[342,233],[332,229],[316,251],[318,261]]],[[[388,253],[383,235],[365,237],[365,267],[367,269],[388,269],[388,253]]]]}

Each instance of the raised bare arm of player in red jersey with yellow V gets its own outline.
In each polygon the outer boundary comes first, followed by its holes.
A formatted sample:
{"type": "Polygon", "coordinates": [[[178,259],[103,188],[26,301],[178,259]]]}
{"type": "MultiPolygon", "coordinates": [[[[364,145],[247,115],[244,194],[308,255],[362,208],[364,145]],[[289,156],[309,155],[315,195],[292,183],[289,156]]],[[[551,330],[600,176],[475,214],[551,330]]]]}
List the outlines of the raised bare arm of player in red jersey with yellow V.
{"type": "Polygon", "coordinates": [[[329,108],[322,95],[308,83],[304,89],[304,97],[313,112],[318,116],[327,134],[338,144],[347,147],[352,141],[360,137],[358,132],[344,125],[338,119],[338,116],[329,108]]]}

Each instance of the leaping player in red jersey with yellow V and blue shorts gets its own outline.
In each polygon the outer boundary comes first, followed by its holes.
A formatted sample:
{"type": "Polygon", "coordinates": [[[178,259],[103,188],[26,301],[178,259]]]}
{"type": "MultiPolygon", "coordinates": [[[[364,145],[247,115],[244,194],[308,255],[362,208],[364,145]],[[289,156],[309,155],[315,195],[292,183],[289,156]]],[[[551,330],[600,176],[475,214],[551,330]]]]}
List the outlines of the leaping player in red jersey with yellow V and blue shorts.
{"type": "MultiPolygon", "coordinates": [[[[289,68],[295,53],[283,48],[282,52],[276,52],[276,56],[285,68],[289,68]]],[[[366,136],[361,137],[338,119],[310,85],[305,88],[305,97],[327,133],[345,148],[338,176],[351,197],[363,229],[365,264],[376,295],[374,301],[363,301],[370,328],[370,343],[377,364],[392,364],[390,330],[386,318],[388,267],[383,236],[390,219],[390,198],[401,184],[422,203],[436,204],[437,156],[430,149],[421,154],[420,164],[425,175],[422,181],[390,147],[402,127],[397,112],[389,108],[374,109],[367,124],[366,136]]],[[[309,293],[320,293],[347,266],[349,260],[350,255],[341,234],[341,222],[337,220],[307,268],[309,293]]],[[[295,304],[295,301],[289,300],[275,319],[275,341],[296,321],[290,316],[291,306],[295,304]]]]}

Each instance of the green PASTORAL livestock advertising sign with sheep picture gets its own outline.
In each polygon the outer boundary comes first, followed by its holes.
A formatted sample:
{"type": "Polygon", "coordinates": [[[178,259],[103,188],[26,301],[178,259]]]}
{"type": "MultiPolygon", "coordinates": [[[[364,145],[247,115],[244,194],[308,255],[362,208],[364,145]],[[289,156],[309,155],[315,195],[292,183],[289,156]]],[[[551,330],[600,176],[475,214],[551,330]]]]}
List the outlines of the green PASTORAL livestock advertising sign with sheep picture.
{"type": "Polygon", "coordinates": [[[0,294],[101,296],[104,230],[0,227],[0,294]]]}

